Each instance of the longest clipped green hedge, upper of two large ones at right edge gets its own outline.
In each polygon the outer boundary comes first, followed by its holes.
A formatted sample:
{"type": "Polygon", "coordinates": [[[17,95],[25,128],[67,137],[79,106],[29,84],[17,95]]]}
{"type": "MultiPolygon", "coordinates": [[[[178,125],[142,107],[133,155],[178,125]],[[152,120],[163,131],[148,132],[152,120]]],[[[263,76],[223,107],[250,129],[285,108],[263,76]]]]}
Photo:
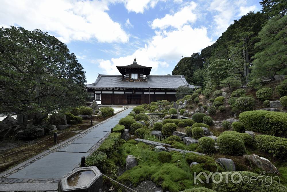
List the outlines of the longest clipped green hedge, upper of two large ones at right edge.
{"type": "Polygon", "coordinates": [[[287,113],[273,111],[246,111],[239,114],[245,129],[268,135],[287,135],[287,113]]]}

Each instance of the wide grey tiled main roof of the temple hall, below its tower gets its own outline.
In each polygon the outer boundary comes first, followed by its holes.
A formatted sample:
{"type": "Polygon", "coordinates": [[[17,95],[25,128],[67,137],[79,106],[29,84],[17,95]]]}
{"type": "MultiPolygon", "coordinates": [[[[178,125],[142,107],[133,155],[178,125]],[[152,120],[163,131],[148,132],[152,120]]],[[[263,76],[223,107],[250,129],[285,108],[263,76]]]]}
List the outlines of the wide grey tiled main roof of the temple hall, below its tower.
{"type": "Polygon", "coordinates": [[[147,81],[122,81],[121,75],[102,75],[99,74],[97,80],[86,85],[87,88],[158,88],[158,89],[177,89],[179,86],[190,88],[200,87],[189,85],[183,75],[149,75],[147,81]]]}

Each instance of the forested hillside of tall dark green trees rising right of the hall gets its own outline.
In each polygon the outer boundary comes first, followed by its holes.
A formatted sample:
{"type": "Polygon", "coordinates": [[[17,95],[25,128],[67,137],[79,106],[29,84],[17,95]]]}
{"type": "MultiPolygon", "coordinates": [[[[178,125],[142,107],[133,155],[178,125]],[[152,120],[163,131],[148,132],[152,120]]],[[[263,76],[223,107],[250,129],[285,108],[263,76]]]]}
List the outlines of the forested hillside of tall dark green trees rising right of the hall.
{"type": "Polygon", "coordinates": [[[287,1],[260,4],[261,11],[234,20],[213,45],[182,58],[172,75],[184,74],[190,84],[214,88],[221,81],[237,86],[287,74],[287,1]]]}

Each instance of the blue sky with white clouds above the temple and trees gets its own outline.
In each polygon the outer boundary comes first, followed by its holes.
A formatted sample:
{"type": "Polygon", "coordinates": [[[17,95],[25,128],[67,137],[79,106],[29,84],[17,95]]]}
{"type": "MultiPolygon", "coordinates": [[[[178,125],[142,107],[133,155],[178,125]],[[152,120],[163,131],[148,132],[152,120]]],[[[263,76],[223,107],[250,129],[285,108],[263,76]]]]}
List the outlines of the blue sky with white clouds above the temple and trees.
{"type": "Polygon", "coordinates": [[[171,74],[181,56],[211,45],[258,0],[41,0],[0,2],[0,25],[47,31],[67,44],[86,71],[119,74],[116,66],[152,66],[171,74]]]}

